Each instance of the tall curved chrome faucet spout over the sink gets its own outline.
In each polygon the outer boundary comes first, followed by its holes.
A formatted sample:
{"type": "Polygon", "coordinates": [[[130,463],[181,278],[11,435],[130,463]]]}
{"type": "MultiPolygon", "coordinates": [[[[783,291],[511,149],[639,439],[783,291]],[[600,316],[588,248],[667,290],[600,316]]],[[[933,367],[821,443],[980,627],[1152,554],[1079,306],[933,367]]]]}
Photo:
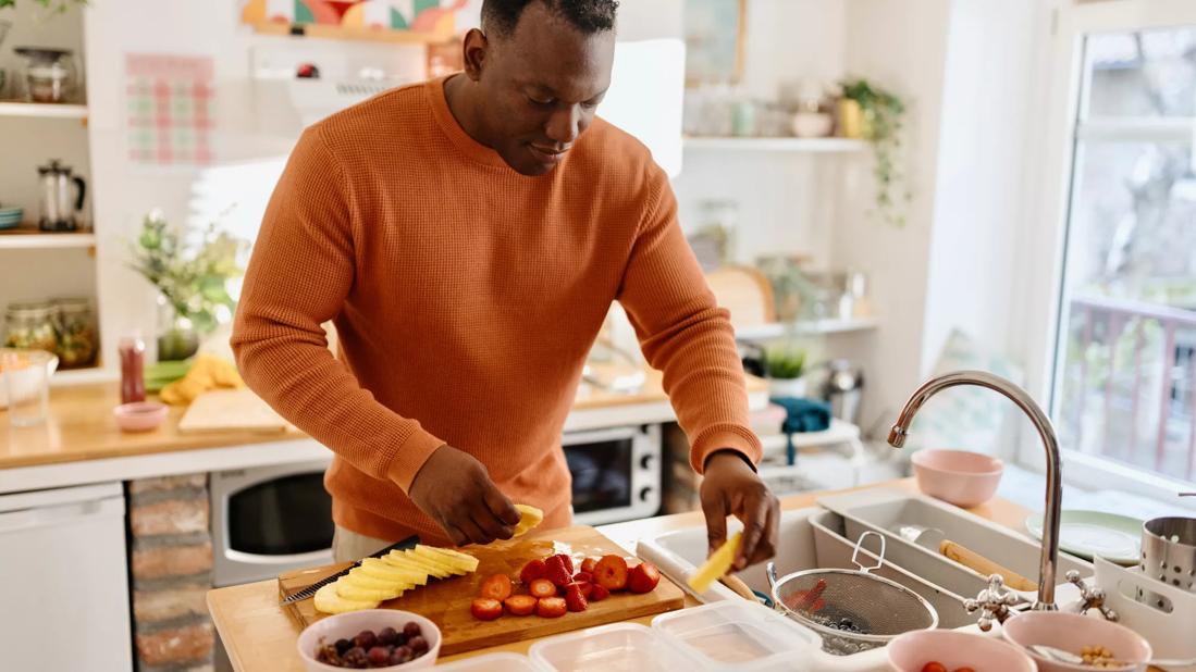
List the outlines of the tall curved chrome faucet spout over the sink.
{"type": "Polygon", "coordinates": [[[905,408],[897,416],[897,422],[889,430],[889,445],[899,448],[905,445],[905,436],[909,435],[909,426],[914,422],[914,416],[930,397],[956,385],[976,385],[1000,392],[1009,398],[1033,423],[1042,438],[1043,448],[1046,451],[1046,511],[1043,514],[1043,551],[1038,562],[1038,601],[1033,609],[1038,611],[1055,611],[1055,569],[1058,564],[1058,514],[1063,499],[1063,485],[1060,476],[1061,463],[1058,458],[1058,440],[1055,438],[1055,427],[1043,409],[1030,397],[1030,395],[1013,383],[983,371],[957,371],[938,378],[932,378],[922,384],[909,401],[905,408]]]}

